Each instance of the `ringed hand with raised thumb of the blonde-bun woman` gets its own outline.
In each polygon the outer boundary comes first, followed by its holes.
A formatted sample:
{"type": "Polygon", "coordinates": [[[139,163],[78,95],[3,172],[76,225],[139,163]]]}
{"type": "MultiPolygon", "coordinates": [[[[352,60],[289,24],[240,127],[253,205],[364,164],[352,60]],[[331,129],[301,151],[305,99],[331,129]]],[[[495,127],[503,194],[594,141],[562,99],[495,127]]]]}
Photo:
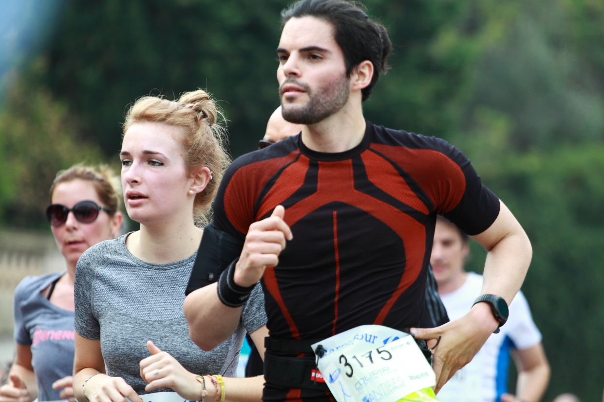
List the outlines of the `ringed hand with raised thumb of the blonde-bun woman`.
{"type": "MultiPolygon", "coordinates": [[[[158,347],[153,345],[153,342],[147,341],[147,349],[149,349],[151,356],[141,360],[141,378],[149,383],[145,387],[145,391],[150,392],[156,388],[170,388],[188,401],[201,400],[203,386],[196,379],[196,374],[188,372],[174,357],[159,350],[158,347]]],[[[208,389],[209,397],[211,397],[211,394],[214,394],[214,397],[216,396],[213,391],[212,387],[208,389]]]]}

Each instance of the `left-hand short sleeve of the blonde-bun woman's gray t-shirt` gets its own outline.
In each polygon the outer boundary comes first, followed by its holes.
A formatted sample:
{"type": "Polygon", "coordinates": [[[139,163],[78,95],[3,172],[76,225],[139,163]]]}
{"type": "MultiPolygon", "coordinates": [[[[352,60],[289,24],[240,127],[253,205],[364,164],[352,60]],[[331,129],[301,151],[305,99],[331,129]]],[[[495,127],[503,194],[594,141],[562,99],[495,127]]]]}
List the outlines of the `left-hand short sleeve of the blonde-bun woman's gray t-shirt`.
{"type": "Polygon", "coordinates": [[[74,280],[74,301],[76,312],[74,328],[84,338],[98,341],[101,339],[101,328],[92,311],[92,282],[94,281],[95,266],[93,266],[92,253],[89,248],[80,257],[76,265],[76,278],[74,280]]]}

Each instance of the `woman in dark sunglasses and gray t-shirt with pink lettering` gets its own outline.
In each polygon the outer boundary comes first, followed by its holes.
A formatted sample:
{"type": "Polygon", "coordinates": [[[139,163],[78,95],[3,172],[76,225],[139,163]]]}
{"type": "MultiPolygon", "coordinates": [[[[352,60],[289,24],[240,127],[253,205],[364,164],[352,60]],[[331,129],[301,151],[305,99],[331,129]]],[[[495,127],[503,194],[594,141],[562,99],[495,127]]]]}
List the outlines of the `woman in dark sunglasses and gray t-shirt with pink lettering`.
{"type": "Polygon", "coordinates": [[[111,172],[73,166],[50,188],[47,218],[66,272],[27,277],[14,291],[16,357],[2,402],[74,401],[74,275],[82,253],[118,233],[120,194],[111,172]]]}

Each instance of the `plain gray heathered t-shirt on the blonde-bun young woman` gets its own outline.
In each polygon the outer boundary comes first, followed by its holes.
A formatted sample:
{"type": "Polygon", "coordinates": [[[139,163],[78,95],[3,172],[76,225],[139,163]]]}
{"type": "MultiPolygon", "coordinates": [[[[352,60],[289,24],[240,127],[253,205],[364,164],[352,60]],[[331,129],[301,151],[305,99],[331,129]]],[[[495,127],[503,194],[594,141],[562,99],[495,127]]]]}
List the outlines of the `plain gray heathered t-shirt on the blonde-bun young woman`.
{"type": "MultiPolygon", "coordinates": [[[[231,338],[210,352],[188,335],[182,312],[185,288],[196,253],[170,264],[153,264],[133,256],[124,235],[92,246],[76,267],[77,333],[101,341],[107,374],[122,377],[138,394],[146,394],[139,363],[150,356],[151,340],[195,374],[233,377],[246,331],[266,324],[264,297],[256,286],[243,306],[242,319],[231,338]]],[[[155,389],[152,392],[172,391],[155,389]]]]}

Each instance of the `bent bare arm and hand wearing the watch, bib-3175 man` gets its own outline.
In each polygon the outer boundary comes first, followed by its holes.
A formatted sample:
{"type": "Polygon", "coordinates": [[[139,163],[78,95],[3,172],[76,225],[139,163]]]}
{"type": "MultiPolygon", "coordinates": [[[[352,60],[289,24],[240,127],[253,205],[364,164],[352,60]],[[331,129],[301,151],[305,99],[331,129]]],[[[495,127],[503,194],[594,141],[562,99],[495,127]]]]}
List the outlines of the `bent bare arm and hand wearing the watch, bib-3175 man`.
{"type": "MultiPolygon", "coordinates": [[[[526,233],[510,210],[501,203],[495,222],[472,238],[487,250],[482,293],[503,297],[509,306],[524,281],[532,258],[526,233]]],[[[437,328],[411,330],[419,339],[442,337],[434,353],[436,392],[458,369],[471,362],[498,325],[490,306],[478,303],[460,319],[437,328]]]]}

